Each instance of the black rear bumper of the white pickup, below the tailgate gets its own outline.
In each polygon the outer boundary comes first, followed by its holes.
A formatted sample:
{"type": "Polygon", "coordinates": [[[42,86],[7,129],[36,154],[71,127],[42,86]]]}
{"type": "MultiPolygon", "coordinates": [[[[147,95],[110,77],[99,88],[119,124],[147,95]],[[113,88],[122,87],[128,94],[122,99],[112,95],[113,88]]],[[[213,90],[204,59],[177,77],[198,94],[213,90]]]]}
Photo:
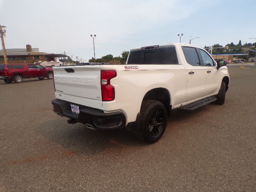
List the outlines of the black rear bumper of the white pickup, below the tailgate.
{"type": "Polygon", "coordinates": [[[80,112],[76,114],[71,112],[70,104],[64,100],[52,100],[53,111],[72,119],[72,122],[86,124],[92,129],[118,129],[125,126],[126,118],[122,112],[104,113],[99,109],[72,103],[79,106],[80,112]]]}

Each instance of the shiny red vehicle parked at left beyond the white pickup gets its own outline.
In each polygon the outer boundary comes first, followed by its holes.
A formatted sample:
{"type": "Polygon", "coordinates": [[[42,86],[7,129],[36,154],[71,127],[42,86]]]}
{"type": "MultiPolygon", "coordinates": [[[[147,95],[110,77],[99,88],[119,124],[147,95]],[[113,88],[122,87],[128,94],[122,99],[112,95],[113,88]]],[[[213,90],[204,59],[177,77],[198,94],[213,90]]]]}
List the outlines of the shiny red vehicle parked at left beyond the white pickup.
{"type": "Polygon", "coordinates": [[[52,68],[45,68],[38,64],[0,64],[0,79],[5,83],[21,83],[23,78],[53,78],[52,68]]]}

